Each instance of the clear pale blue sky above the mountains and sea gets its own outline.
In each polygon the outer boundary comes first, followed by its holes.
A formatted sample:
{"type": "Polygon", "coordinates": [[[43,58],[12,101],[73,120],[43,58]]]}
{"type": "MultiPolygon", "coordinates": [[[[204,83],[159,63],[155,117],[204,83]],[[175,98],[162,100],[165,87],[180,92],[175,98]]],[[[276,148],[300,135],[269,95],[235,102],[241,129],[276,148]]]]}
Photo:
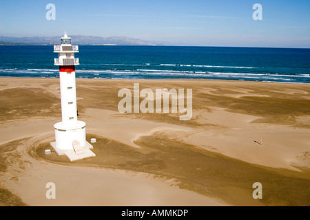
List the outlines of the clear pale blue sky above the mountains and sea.
{"type": "Polygon", "coordinates": [[[309,0],[0,0],[0,35],[128,36],[172,45],[310,48],[309,0]],[[56,20],[48,21],[48,3],[56,20]],[[252,9],[262,5],[262,21],[252,9]]]}

